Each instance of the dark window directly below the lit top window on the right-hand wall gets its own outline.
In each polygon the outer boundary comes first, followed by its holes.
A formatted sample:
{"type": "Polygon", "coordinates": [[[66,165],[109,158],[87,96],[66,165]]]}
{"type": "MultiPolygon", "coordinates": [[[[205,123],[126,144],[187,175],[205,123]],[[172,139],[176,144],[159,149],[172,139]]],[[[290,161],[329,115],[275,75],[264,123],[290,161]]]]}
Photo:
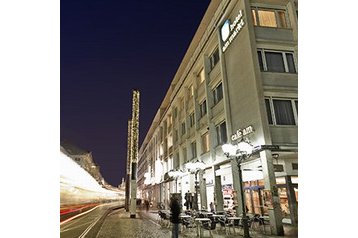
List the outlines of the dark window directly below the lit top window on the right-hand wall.
{"type": "Polygon", "coordinates": [[[258,49],[261,71],[296,73],[293,52],[258,49]]]}

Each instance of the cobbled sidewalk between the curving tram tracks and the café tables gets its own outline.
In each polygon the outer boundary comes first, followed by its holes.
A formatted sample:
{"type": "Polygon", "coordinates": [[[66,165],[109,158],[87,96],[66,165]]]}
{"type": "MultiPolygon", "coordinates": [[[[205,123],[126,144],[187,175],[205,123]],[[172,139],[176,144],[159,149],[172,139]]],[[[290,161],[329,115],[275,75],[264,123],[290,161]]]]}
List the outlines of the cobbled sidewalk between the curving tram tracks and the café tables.
{"type": "MultiPolygon", "coordinates": [[[[224,230],[220,229],[220,225],[212,231],[214,238],[231,238],[242,237],[241,235],[226,235],[224,230]]],[[[285,236],[270,236],[257,232],[250,233],[252,238],[279,238],[279,237],[298,237],[297,228],[290,225],[284,225],[285,236]]],[[[242,231],[241,231],[242,232],[242,231]]],[[[241,234],[241,233],[240,233],[241,234]]],[[[124,209],[116,210],[109,214],[105,219],[96,238],[117,238],[117,237],[153,237],[153,238],[170,238],[171,228],[161,226],[159,224],[159,216],[157,210],[137,210],[136,219],[129,218],[129,213],[124,209]]],[[[179,233],[179,237],[196,237],[196,228],[184,229],[179,233]]],[[[210,233],[204,230],[203,237],[210,237],[210,233]]]]}

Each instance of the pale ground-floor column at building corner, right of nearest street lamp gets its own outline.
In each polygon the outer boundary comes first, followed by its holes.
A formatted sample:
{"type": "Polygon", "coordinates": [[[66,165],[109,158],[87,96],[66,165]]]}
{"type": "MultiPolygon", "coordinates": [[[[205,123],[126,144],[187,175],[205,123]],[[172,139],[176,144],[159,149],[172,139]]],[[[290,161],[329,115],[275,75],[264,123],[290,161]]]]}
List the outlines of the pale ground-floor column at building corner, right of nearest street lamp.
{"type": "Polygon", "coordinates": [[[265,191],[271,194],[272,206],[268,209],[270,217],[270,228],[272,235],[284,235],[282,225],[282,212],[280,207],[280,197],[276,186],[276,177],[274,173],[271,151],[264,150],[260,152],[262,163],[262,173],[264,176],[265,191]]]}

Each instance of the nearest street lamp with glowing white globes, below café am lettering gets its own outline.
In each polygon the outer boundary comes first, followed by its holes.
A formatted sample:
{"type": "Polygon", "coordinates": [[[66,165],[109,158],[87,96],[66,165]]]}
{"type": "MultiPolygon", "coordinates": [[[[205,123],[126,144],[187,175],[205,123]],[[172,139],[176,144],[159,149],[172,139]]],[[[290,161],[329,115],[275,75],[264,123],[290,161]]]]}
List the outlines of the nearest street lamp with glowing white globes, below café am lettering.
{"type": "Polygon", "coordinates": [[[244,188],[242,186],[242,171],[241,163],[248,159],[252,154],[252,145],[247,141],[240,141],[237,145],[233,144],[224,144],[222,150],[226,157],[229,159],[236,159],[237,166],[239,169],[239,182],[241,187],[241,207],[242,207],[242,226],[244,228],[244,238],[250,238],[249,226],[248,226],[248,217],[246,216],[246,206],[244,201],[244,188]]]}

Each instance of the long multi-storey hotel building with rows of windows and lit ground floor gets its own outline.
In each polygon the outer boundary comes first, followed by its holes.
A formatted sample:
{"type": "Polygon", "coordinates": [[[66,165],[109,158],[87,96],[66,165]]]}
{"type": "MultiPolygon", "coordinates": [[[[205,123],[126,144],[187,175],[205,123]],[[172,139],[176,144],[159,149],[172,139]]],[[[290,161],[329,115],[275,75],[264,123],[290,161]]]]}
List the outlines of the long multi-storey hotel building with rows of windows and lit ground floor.
{"type": "Polygon", "coordinates": [[[168,206],[268,215],[273,234],[297,224],[298,1],[211,1],[139,151],[138,194],[168,206]],[[222,150],[245,139],[241,164],[222,150]],[[194,162],[202,166],[195,169],[194,162]],[[172,176],[171,172],[180,171],[172,176]],[[241,189],[243,187],[243,191],[241,189]]]}

